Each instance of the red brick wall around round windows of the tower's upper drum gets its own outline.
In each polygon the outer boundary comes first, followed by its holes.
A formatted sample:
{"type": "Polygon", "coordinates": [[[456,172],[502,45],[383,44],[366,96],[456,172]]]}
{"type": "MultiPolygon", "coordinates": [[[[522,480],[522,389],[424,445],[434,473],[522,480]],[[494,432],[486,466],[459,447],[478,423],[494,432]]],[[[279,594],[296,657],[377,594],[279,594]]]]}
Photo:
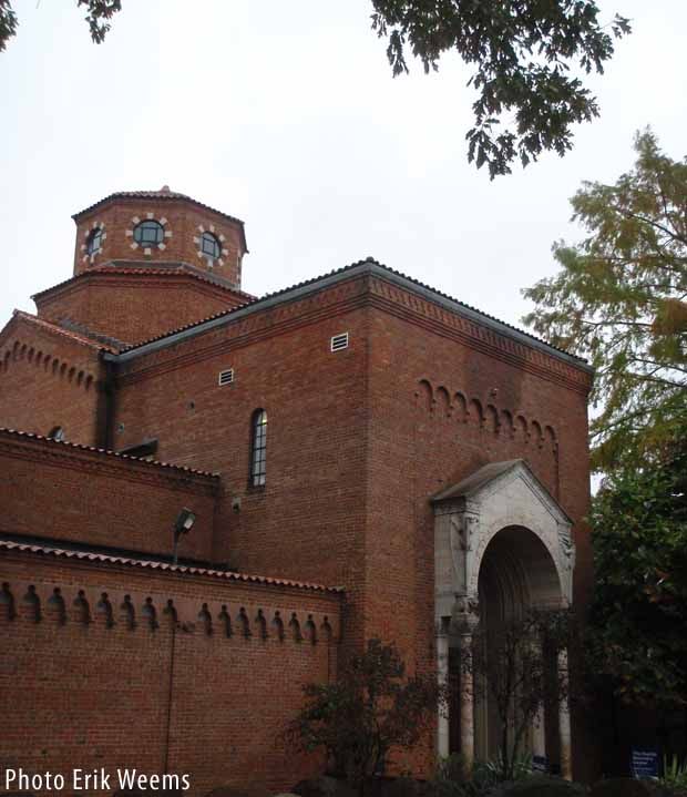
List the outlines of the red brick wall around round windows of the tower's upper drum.
{"type": "Polygon", "coordinates": [[[76,243],[74,251],[74,274],[99,266],[107,260],[146,260],[174,262],[183,260],[201,268],[208,268],[225,279],[240,287],[240,259],[243,257],[243,238],[240,225],[232,222],[225,216],[213,213],[213,211],[198,207],[192,202],[184,200],[134,200],[116,198],[105,206],[93,211],[79,218],[76,223],[76,243]],[[133,237],[126,235],[135,226],[134,217],[145,221],[148,213],[153,214],[156,221],[166,219],[165,231],[172,235],[165,237],[164,249],[152,249],[145,255],[141,247],[132,248],[133,237]],[[86,241],[90,231],[102,223],[105,239],[102,251],[93,258],[84,259],[84,251],[81,248],[86,241]],[[209,231],[214,227],[214,234],[224,235],[223,246],[226,254],[222,255],[224,265],[215,263],[212,268],[207,267],[206,258],[197,255],[198,245],[194,242],[201,233],[198,226],[203,225],[209,231]]]}

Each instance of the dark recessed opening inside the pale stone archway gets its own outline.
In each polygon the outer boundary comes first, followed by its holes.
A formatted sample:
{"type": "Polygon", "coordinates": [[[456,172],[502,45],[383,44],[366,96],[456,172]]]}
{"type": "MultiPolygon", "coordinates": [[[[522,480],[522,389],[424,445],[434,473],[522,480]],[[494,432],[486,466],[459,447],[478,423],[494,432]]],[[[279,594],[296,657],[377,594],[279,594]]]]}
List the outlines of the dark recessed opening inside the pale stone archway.
{"type": "MultiPolygon", "coordinates": [[[[489,655],[490,646],[493,650],[499,645],[499,633],[504,625],[522,620],[531,609],[561,606],[561,583],[555,563],[534,532],[510,525],[492,538],[480,563],[478,595],[481,633],[475,643],[486,648],[482,652],[484,656],[489,655]]],[[[476,695],[474,721],[476,758],[495,758],[502,722],[493,694],[476,695]]],[[[530,752],[541,757],[546,756],[545,725],[545,716],[541,716],[525,743],[530,752]]]]}

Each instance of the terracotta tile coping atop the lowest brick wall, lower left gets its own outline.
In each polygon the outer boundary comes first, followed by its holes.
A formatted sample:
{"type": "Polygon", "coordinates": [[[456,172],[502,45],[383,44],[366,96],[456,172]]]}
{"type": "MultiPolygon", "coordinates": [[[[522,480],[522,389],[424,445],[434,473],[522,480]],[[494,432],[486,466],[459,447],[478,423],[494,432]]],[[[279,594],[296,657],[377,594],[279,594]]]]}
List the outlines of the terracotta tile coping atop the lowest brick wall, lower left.
{"type": "Polygon", "coordinates": [[[291,581],[290,579],[273,579],[268,575],[252,575],[248,573],[236,573],[227,570],[212,570],[209,568],[196,568],[193,565],[172,564],[170,562],[157,562],[148,559],[134,559],[132,556],[117,556],[96,551],[76,551],[69,548],[52,548],[50,545],[38,545],[28,542],[16,542],[0,539],[0,549],[6,551],[20,551],[22,553],[34,553],[39,555],[55,556],[60,559],[73,559],[78,561],[98,562],[99,564],[125,565],[132,568],[144,568],[146,570],[160,570],[168,573],[183,575],[203,575],[225,581],[238,581],[252,584],[266,584],[269,586],[290,586],[299,590],[312,590],[316,592],[331,592],[341,594],[340,586],[324,586],[307,581],[291,581]]]}

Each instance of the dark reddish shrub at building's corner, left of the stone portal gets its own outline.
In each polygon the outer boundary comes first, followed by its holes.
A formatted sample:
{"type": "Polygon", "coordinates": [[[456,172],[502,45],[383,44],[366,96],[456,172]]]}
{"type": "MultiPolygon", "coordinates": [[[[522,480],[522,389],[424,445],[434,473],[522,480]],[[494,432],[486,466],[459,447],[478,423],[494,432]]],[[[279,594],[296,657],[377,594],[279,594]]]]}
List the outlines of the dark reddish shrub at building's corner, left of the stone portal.
{"type": "Polygon", "coordinates": [[[287,728],[304,752],[324,748],[335,774],[363,793],[366,778],[383,770],[393,747],[412,747],[442,702],[437,677],[406,677],[393,645],[370,640],[331,684],[304,686],[306,705],[287,728]]]}

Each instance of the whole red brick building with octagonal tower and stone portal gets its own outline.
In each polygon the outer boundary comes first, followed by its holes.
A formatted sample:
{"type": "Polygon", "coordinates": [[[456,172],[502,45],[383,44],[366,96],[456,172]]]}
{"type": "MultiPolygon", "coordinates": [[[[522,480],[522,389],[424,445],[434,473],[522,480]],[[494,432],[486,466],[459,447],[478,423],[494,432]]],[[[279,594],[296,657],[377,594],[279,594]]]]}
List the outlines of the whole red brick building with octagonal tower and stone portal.
{"type": "MultiPolygon", "coordinates": [[[[0,333],[6,766],[284,790],[341,653],[443,678],[480,620],[585,600],[584,361],[371,258],[249,296],[243,223],[166,186],[73,218],[73,276],[0,333]]],[[[396,765],[489,755],[463,703],[396,765]]]]}

